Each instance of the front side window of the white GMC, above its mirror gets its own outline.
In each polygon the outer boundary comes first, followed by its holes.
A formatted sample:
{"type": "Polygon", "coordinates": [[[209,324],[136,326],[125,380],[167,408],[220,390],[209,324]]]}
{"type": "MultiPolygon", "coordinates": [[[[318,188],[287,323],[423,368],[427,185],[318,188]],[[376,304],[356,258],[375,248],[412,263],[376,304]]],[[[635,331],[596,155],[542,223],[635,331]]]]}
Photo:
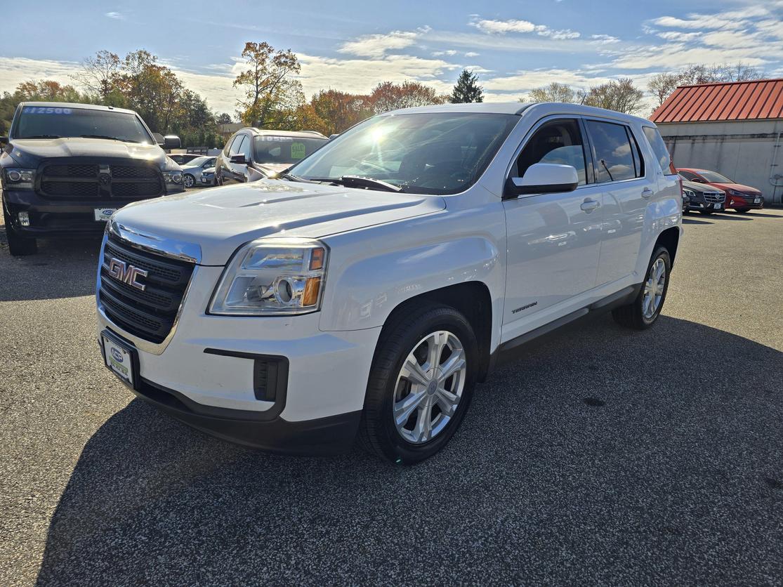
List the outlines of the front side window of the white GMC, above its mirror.
{"type": "Polygon", "coordinates": [[[518,177],[525,177],[528,167],[536,163],[571,165],[576,168],[579,185],[587,182],[585,150],[579,123],[569,119],[543,124],[519,153],[518,177]]]}

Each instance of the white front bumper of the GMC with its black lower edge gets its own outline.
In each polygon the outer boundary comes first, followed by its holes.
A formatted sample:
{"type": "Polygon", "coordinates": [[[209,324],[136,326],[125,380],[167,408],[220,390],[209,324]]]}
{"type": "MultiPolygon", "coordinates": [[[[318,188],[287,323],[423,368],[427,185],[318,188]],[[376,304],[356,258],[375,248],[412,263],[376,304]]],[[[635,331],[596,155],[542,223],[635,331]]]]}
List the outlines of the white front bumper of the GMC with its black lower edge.
{"type": "Polygon", "coordinates": [[[307,440],[313,427],[347,426],[340,433],[330,432],[337,445],[345,445],[344,435],[355,434],[355,416],[347,415],[363,409],[381,328],[324,332],[319,330],[319,312],[207,315],[222,269],[197,265],[175,328],[161,344],[122,330],[98,302],[98,333],[110,330],[138,353],[136,380],[141,383],[135,393],[201,430],[266,450],[318,452],[307,440]],[[258,373],[266,368],[258,362],[274,359],[287,362],[286,384],[283,393],[265,397],[258,373]],[[179,401],[174,407],[172,396],[179,401]],[[215,410],[218,420],[211,420],[215,410]],[[232,434],[234,425],[238,434],[232,434]],[[305,448],[288,448],[291,443],[305,448]]]}

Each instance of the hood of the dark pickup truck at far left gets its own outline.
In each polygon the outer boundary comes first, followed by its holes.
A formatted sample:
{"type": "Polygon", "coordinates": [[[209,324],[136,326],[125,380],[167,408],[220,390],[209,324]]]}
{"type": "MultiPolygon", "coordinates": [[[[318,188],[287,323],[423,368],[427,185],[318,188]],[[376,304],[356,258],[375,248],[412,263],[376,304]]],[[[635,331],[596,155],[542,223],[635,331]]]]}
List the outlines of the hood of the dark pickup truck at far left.
{"type": "Polygon", "coordinates": [[[105,157],[146,160],[164,167],[166,153],[157,145],[110,139],[13,139],[13,158],[20,164],[38,164],[49,157],[105,157]]]}

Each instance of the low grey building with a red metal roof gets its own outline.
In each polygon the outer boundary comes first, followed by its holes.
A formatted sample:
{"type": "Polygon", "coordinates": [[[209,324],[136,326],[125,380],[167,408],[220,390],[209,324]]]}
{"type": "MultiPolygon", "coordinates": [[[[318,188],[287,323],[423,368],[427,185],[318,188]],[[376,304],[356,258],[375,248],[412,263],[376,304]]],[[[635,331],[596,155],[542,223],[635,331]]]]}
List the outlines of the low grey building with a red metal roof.
{"type": "Polygon", "coordinates": [[[783,200],[783,79],[684,85],[650,117],[677,167],[719,171],[783,200]]]}

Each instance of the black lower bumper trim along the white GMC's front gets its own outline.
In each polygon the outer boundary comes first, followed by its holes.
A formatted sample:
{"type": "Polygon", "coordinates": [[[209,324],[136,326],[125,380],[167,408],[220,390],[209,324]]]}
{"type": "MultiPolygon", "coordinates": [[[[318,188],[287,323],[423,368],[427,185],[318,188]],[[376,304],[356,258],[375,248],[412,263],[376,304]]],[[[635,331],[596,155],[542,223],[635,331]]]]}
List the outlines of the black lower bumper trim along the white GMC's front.
{"type": "Polygon", "coordinates": [[[133,393],[182,423],[217,438],[290,455],[334,455],[348,451],[359,430],[362,412],[347,412],[316,420],[289,422],[280,416],[262,419],[263,412],[215,408],[197,404],[177,391],[142,379],[133,393]]]}

